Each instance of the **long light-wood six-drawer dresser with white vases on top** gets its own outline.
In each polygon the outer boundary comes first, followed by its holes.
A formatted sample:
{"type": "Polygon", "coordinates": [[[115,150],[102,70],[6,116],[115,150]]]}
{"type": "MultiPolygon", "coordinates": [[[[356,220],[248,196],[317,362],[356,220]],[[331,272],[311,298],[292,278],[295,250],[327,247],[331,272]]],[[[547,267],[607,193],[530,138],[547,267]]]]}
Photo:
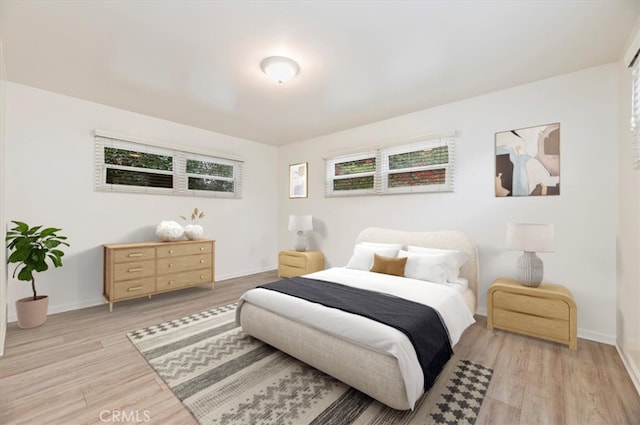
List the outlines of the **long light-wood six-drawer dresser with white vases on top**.
{"type": "Polygon", "coordinates": [[[215,284],[215,241],[104,245],[104,297],[113,303],[215,284]]]}

